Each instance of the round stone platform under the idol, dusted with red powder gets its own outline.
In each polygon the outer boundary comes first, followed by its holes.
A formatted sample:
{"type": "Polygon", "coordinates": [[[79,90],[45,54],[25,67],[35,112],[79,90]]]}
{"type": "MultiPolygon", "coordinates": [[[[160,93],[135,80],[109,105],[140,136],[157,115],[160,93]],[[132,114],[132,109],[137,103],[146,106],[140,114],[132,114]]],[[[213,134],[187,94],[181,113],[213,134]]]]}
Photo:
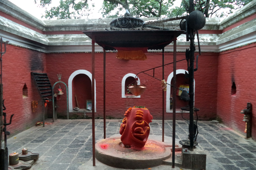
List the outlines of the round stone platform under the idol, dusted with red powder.
{"type": "Polygon", "coordinates": [[[162,164],[171,157],[171,148],[148,139],[140,151],[123,148],[120,137],[110,137],[95,144],[95,156],[100,162],[117,168],[143,169],[162,164]]]}

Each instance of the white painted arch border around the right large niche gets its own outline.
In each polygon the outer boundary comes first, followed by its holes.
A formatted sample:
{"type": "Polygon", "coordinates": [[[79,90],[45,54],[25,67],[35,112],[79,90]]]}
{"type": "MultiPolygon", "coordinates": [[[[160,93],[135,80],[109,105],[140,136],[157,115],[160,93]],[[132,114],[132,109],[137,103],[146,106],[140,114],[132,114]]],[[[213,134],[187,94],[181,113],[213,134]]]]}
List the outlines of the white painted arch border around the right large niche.
{"type": "MultiPolygon", "coordinates": [[[[176,70],[176,75],[177,74],[185,74],[185,72],[188,73],[187,70],[183,70],[183,69],[179,69],[179,70],[176,70]]],[[[167,78],[167,83],[169,85],[167,85],[167,90],[166,90],[166,113],[172,113],[172,110],[170,110],[170,96],[171,96],[171,81],[172,81],[172,78],[173,78],[173,72],[168,76],[167,78]]],[[[195,94],[195,79],[194,79],[194,94],[195,94]]],[[[194,104],[195,104],[195,95],[194,95],[194,104]]],[[[183,113],[186,113],[188,111],[183,111],[183,113]]],[[[181,113],[181,111],[178,111],[176,110],[176,113],[181,113]]]]}

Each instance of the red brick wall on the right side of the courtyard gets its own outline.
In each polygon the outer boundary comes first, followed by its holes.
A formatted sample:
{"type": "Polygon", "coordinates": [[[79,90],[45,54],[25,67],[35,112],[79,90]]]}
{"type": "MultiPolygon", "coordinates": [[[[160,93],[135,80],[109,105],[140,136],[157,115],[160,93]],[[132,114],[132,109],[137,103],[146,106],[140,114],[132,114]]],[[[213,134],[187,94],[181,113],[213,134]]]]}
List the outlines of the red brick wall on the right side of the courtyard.
{"type": "Polygon", "coordinates": [[[256,139],[256,95],[254,78],[256,71],[256,44],[221,52],[218,61],[217,118],[230,128],[244,133],[244,114],[240,114],[247,102],[252,103],[252,137],[256,139]],[[236,94],[231,95],[233,82],[236,94]]]}

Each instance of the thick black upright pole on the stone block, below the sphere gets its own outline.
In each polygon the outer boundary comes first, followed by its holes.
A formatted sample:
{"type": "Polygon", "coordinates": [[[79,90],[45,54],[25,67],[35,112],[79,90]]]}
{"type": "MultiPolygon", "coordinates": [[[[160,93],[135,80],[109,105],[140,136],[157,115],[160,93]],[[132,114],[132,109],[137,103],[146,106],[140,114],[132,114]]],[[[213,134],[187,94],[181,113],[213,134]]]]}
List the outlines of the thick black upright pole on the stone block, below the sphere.
{"type": "Polygon", "coordinates": [[[194,151],[194,38],[190,31],[190,56],[189,56],[189,140],[190,151],[194,151]]]}

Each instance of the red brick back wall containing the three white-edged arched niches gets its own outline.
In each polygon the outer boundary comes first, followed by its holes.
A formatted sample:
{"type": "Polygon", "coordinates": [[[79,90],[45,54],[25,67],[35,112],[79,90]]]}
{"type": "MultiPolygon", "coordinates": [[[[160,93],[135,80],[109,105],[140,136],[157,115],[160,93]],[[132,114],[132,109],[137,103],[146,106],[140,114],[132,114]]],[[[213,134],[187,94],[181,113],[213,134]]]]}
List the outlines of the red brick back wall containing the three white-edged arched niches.
{"type": "MultiPolygon", "coordinates": [[[[76,70],[92,72],[91,53],[52,53],[47,54],[47,74],[52,85],[58,81],[57,74],[62,74],[61,81],[68,85],[68,78],[76,70]]],[[[122,79],[128,73],[137,74],[141,71],[162,65],[160,53],[147,53],[145,61],[120,60],[116,53],[106,53],[106,116],[107,118],[123,119],[124,113],[129,107],[145,106],[149,109],[154,119],[162,119],[162,90],[161,82],[148,75],[140,73],[138,77],[147,86],[140,98],[122,98],[122,79]]],[[[178,53],[177,60],[185,58],[184,53],[178,53]]],[[[173,62],[173,54],[166,53],[165,64],[173,62]]],[[[103,53],[95,54],[95,80],[96,80],[96,118],[103,118],[103,53]]],[[[216,119],[217,105],[217,73],[218,54],[203,53],[199,57],[198,70],[195,72],[195,106],[200,108],[199,120],[216,119]]],[[[177,69],[187,70],[187,62],[177,63],[177,69]]],[[[173,71],[173,65],[165,66],[165,80],[173,71]]],[[[153,75],[153,70],[147,72],[153,75]]],[[[162,79],[162,68],[155,69],[155,77],[162,79]]],[[[64,87],[64,86],[63,86],[64,87]]],[[[57,101],[57,113],[59,117],[67,115],[66,90],[57,101]]],[[[55,93],[57,88],[55,89],[55,93]]],[[[73,94],[74,95],[74,94],[73,94]]],[[[166,99],[166,92],[165,98],[166,99]]],[[[164,112],[166,103],[164,104],[164,112]]],[[[86,113],[88,117],[92,113],[86,113]]],[[[49,107],[48,116],[52,117],[52,107],[49,107]]],[[[84,118],[83,113],[69,113],[70,118],[84,118]]],[[[182,120],[181,114],[176,114],[177,119],[182,120]]],[[[184,114],[188,118],[188,114],[184,114]]],[[[172,119],[172,113],[165,112],[165,119],[172,119]]]]}

